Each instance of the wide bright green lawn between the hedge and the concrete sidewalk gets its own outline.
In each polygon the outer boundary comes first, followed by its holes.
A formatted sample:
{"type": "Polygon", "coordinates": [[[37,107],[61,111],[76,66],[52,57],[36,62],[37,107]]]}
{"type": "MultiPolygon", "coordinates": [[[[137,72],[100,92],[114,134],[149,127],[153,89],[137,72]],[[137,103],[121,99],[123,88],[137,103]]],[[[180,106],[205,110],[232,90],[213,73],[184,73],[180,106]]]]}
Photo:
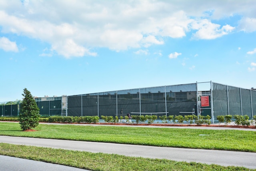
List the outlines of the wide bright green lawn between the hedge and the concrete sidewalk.
{"type": "Polygon", "coordinates": [[[24,132],[19,123],[0,123],[0,135],[8,136],[256,152],[256,131],[46,124],[36,130],[24,132]]]}

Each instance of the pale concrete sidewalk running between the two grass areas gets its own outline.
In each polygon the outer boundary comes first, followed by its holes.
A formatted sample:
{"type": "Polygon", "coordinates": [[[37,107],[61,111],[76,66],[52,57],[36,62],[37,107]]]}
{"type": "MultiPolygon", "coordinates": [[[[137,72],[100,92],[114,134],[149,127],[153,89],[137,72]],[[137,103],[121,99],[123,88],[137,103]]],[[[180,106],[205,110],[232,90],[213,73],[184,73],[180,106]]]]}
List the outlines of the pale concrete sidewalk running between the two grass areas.
{"type": "Polygon", "coordinates": [[[175,161],[195,161],[223,166],[243,166],[256,169],[256,153],[238,151],[220,151],[205,149],[183,149],[172,147],[153,147],[144,145],[126,145],[116,143],[99,143],[87,141],[69,141],[58,139],[40,139],[29,137],[0,136],[1,143],[51,147],[93,153],[114,153],[119,155],[170,159],[175,161]]]}

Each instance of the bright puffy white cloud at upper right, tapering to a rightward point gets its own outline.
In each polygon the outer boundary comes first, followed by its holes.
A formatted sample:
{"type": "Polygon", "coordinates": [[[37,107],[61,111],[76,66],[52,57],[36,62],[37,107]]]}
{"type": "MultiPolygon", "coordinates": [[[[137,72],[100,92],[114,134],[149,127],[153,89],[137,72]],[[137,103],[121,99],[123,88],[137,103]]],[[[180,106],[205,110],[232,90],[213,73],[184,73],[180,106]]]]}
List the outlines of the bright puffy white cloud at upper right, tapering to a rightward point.
{"type": "Polygon", "coordinates": [[[192,29],[198,30],[193,34],[195,39],[216,39],[231,33],[235,28],[230,25],[225,25],[220,28],[219,24],[214,24],[207,19],[192,23],[192,29]]]}

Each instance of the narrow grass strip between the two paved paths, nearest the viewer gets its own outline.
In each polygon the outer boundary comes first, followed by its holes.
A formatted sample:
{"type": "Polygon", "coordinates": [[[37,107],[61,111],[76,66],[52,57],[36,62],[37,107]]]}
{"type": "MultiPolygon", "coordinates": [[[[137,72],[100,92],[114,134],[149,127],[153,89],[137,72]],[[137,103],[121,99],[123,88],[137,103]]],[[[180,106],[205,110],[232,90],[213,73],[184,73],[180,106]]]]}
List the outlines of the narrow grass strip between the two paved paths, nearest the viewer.
{"type": "Polygon", "coordinates": [[[255,171],[245,167],[223,167],[215,164],[207,165],[167,159],[126,157],[116,154],[90,153],[7,143],[0,143],[0,155],[67,165],[92,171],[255,171]]]}

